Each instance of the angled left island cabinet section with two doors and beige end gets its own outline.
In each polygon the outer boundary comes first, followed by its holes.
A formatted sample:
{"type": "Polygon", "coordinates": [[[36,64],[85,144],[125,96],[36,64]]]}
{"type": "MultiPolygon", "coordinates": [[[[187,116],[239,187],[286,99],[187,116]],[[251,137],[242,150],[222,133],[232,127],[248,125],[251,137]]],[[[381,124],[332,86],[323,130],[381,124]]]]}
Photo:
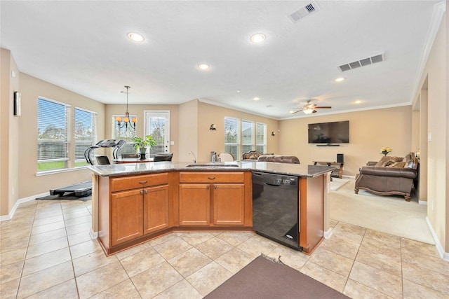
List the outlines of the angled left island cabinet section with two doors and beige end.
{"type": "Polygon", "coordinates": [[[107,253],[169,227],[168,173],[100,177],[98,188],[98,237],[107,253]]]}

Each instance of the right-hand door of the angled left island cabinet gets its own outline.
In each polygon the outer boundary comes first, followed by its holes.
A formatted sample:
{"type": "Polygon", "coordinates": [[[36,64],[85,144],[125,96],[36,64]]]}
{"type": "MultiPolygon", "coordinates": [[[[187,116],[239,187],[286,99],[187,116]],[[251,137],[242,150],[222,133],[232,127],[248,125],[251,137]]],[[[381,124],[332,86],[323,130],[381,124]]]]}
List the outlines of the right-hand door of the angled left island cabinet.
{"type": "Polygon", "coordinates": [[[168,186],[143,190],[143,232],[168,228],[168,186]]]}

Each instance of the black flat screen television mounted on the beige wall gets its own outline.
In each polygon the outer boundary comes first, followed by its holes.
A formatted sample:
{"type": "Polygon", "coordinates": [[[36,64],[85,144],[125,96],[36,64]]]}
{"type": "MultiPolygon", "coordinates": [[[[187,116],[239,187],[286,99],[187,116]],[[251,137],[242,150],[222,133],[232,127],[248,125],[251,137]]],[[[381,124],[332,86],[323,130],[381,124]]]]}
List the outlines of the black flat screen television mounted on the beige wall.
{"type": "Polygon", "coordinates": [[[309,144],[349,144],[349,120],[308,126],[309,144]]]}

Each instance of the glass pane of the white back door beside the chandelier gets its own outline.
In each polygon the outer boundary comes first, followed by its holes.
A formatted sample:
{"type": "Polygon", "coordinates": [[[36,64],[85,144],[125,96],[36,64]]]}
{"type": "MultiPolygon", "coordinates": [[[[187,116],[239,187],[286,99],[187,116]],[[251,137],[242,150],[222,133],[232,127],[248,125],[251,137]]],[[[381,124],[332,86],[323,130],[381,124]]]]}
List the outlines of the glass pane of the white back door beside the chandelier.
{"type": "Polygon", "coordinates": [[[157,144],[149,149],[149,156],[170,153],[170,111],[145,111],[145,136],[150,135],[157,144]]]}

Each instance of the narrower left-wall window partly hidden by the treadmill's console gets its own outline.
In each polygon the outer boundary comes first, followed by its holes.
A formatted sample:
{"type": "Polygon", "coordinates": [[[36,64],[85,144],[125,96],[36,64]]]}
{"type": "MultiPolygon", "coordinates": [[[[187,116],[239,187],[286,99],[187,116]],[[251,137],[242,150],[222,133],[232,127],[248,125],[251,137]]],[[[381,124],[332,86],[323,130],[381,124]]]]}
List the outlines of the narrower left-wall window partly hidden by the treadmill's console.
{"type": "Polygon", "coordinates": [[[97,113],[75,108],[75,167],[88,165],[84,152],[97,140],[97,113]]]}

